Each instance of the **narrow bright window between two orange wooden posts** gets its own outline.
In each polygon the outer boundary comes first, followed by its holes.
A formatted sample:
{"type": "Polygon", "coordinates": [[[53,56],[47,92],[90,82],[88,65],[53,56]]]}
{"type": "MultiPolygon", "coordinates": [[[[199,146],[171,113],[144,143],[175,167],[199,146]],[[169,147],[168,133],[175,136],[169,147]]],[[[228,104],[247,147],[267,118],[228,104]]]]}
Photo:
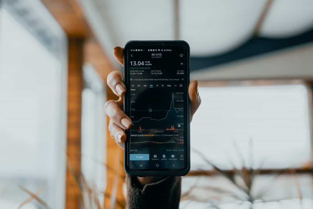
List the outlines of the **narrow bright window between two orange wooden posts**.
{"type": "MultiPolygon", "coordinates": [[[[105,191],[105,91],[92,65],[84,65],[83,77],[81,170],[91,188],[96,186],[97,191],[105,191]]],[[[99,192],[100,203],[103,198],[103,192],[99,192]]]]}

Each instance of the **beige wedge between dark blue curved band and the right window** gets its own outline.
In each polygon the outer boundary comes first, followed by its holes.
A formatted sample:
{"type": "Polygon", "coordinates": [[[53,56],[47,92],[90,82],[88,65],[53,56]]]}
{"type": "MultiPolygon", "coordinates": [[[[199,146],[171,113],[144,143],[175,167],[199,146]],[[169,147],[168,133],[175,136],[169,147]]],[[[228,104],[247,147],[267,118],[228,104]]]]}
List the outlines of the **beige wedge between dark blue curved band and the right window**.
{"type": "Polygon", "coordinates": [[[191,73],[192,80],[242,81],[301,79],[313,80],[313,43],[279,50],[230,63],[202,68],[191,73]]]}

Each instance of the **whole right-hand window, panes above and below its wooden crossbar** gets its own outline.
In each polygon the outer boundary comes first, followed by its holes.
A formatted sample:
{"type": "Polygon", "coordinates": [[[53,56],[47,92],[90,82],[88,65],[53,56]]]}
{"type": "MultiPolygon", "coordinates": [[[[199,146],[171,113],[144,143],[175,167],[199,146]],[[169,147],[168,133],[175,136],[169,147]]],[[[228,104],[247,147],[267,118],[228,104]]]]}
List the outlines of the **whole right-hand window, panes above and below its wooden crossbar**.
{"type": "MultiPolygon", "coordinates": [[[[279,82],[203,86],[199,91],[202,104],[191,123],[191,173],[213,169],[204,158],[222,171],[184,177],[181,206],[250,208],[250,202],[262,200],[270,207],[268,201],[274,205],[277,200],[303,198],[302,204],[311,207],[312,178],[302,169],[311,160],[306,86],[279,82]],[[241,170],[243,166],[248,169],[241,170]]],[[[295,199],[293,204],[298,202],[295,199]]]]}

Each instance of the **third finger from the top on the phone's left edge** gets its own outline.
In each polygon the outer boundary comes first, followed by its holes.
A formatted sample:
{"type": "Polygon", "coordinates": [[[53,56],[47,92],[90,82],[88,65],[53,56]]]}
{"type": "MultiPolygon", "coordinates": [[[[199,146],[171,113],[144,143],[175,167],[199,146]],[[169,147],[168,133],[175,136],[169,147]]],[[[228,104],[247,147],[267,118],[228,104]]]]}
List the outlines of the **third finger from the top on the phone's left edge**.
{"type": "Polygon", "coordinates": [[[131,118],[129,118],[124,111],[121,110],[118,101],[109,100],[104,105],[104,112],[110,117],[112,122],[123,129],[128,129],[132,125],[131,118]]]}

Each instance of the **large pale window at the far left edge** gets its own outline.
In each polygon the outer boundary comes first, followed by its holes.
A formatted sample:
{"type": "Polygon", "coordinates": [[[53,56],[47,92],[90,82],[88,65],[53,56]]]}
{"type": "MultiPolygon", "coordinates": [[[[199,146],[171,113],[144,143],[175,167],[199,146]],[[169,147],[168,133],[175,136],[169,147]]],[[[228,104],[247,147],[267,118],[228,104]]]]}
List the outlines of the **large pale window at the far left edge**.
{"type": "Polygon", "coordinates": [[[6,1],[0,16],[0,205],[18,208],[22,185],[63,208],[66,38],[39,1],[6,1]]]}

